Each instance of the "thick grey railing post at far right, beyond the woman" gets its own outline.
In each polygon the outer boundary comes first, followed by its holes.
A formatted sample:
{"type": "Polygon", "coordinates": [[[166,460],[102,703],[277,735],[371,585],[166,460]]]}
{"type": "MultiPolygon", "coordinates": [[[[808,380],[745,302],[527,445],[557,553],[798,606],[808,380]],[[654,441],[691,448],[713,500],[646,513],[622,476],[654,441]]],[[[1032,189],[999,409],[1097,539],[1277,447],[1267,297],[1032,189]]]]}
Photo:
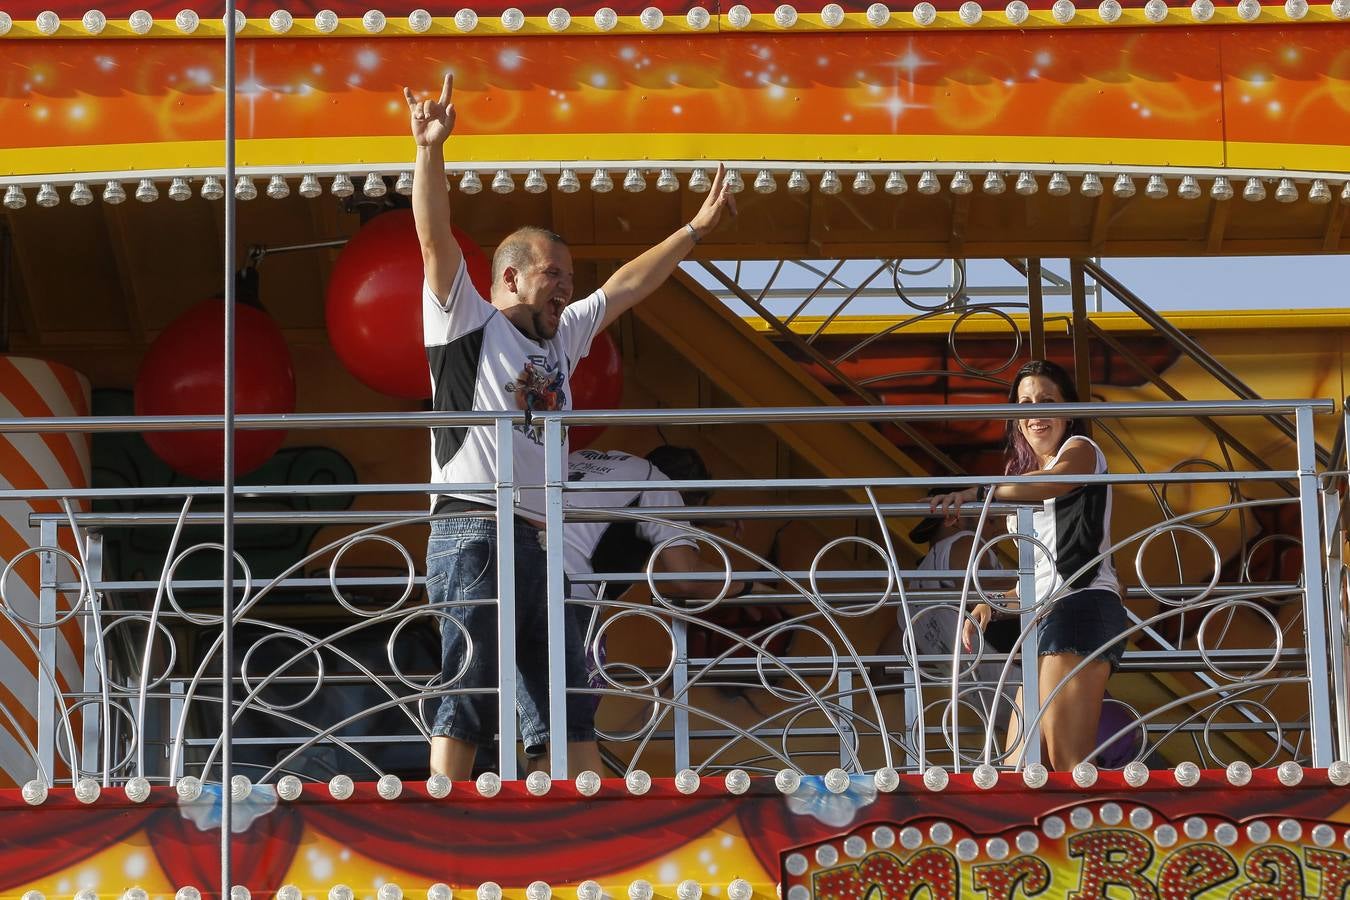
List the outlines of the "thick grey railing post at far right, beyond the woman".
{"type": "Polygon", "coordinates": [[[1304,653],[1308,663],[1308,725],[1312,727],[1312,765],[1324,769],[1335,752],[1331,730],[1331,673],[1327,668],[1327,596],[1322,567],[1319,522],[1316,434],[1312,407],[1295,413],[1299,434],[1299,518],[1303,541],[1303,622],[1307,633],[1304,653]]]}

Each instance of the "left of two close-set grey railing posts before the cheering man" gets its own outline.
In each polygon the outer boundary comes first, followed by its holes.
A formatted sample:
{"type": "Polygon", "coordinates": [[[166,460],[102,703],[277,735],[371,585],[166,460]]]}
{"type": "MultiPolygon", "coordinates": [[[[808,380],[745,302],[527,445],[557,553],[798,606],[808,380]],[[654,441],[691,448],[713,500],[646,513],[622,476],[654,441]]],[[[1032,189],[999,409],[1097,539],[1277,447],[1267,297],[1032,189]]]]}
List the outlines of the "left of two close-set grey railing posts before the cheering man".
{"type": "Polygon", "coordinates": [[[498,775],[516,777],[516,433],[497,429],[497,749],[498,775]]]}

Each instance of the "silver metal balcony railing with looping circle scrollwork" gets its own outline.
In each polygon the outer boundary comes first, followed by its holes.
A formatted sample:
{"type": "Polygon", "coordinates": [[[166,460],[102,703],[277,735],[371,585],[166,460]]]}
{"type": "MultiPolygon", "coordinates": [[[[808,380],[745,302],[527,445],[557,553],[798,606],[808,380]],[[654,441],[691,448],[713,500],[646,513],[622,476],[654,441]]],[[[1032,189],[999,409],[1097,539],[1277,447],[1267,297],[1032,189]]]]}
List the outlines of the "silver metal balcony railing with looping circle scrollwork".
{"type": "MultiPolygon", "coordinates": [[[[1115,522],[1110,556],[1133,564],[1133,571],[1122,565],[1130,586],[1125,591],[1130,621],[1123,637],[1130,644],[1111,680],[1112,698],[1103,716],[1111,726],[1099,733],[1094,752],[1099,762],[1170,757],[1222,766],[1235,758],[1253,765],[1293,758],[1326,766],[1350,757],[1343,536],[1339,497],[1327,490],[1343,480],[1345,472],[1319,471],[1314,436],[1314,417],[1332,413],[1334,405],[1085,403],[1045,405],[1038,412],[1098,422],[1245,417],[1253,428],[1269,426],[1272,416],[1293,417],[1296,440],[1285,467],[1035,476],[1052,483],[1111,484],[1118,509],[1127,511],[1115,522]],[[1280,490],[1281,483],[1296,484],[1296,494],[1280,490]],[[1138,521],[1154,509],[1149,491],[1203,484],[1227,486],[1230,502],[1204,509],[1168,503],[1164,514],[1138,521]],[[1249,565],[1250,529],[1215,525],[1222,517],[1243,519],[1281,507],[1297,510],[1299,533],[1281,540],[1297,548],[1301,575],[1257,580],[1249,565]],[[1131,515],[1130,528],[1123,528],[1131,515]],[[1158,580],[1162,567],[1153,561],[1164,548],[1185,561],[1166,583],[1158,580]],[[1233,559],[1241,560],[1235,569],[1233,559]]],[[[217,779],[223,694],[234,710],[232,765],[254,781],[275,781],[282,775],[316,780],[335,773],[358,779],[389,772],[424,776],[436,704],[447,695],[483,692],[456,684],[456,677],[441,679],[433,626],[446,618],[450,604],[437,609],[424,600],[420,553],[424,529],[437,517],[405,509],[286,513],[248,509],[246,499],[267,501],[297,491],[409,498],[471,493],[487,503],[482,513],[447,515],[490,517],[498,525],[500,599],[490,600],[497,610],[500,657],[493,664],[498,687],[490,695],[498,707],[500,741],[494,758],[483,764],[502,777],[517,777],[517,546],[512,525],[520,491],[531,490],[544,497],[548,768],[554,777],[575,775],[567,760],[562,646],[564,617],[572,611],[585,614],[589,648],[608,645],[598,683],[578,691],[599,699],[599,739],[620,772],[1027,766],[1041,761],[1034,739],[1041,691],[1037,667],[1019,661],[1037,656],[1037,626],[1061,598],[1037,598],[1034,604],[1008,610],[1021,617],[1021,633],[1007,653],[983,645],[961,652],[954,633],[945,644],[953,649],[932,652],[919,646],[915,636],[922,621],[941,610],[960,626],[995,579],[1015,579],[1022,596],[1035,596],[1037,556],[1052,548],[1037,540],[1030,506],[994,503],[967,510],[983,519],[1011,517],[1007,534],[983,542],[1011,551],[1014,569],[938,572],[918,568],[918,553],[903,538],[927,511],[915,498],[937,479],[872,474],[663,482],[662,487],[675,491],[721,493],[721,502],[579,509],[568,505],[568,495],[579,490],[634,491],[651,484],[568,483],[563,441],[564,429],[572,425],[718,428],[794,421],[825,426],[903,420],[922,429],[936,420],[1004,418],[1007,413],[1006,405],[541,413],[533,424],[541,425],[547,453],[543,483],[518,479],[510,455],[498,452],[498,479],[493,483],[240,487],[240,506],[231,517],[236,532],[323,524],[339,536],[290,560],[282,571],[259,576],[236,551],[239,578],[230,622],[219,613],[221,579],[193,572],[192,560],[220,552],[219,540],[197,540],[200,529],[224,521],[221,513],[200,509],[202,502],[219,499],[220,488],[0,491],[0,501],[45,498],[62,503],[61,513],[31,517],[39,538],[24,556],[40,561],[36,614],[24,613],[8,596],[20,559],[9,560],[0,584],[4,618],[23,636],[38,680],[35,708],[0,715],[14,726],[12,733],[24,735],[18,743],[31,758],[27,776],[49,784],[81,776],[105,785],[135,776],[161,783],[185,775],[217,779]],[[165,509],[77,510],[80,501],[147,497],[165,509]],[[571,583],[594,586],[597,599],[570,596],[563,536],[568,522],[583,519],[660,522],[698,542],[717,568],[694,575],[662,572],[656,548],[652,557],[628,571],[574,575],[571,583]],[[770,522],[779,532],[795,529],[795,549],[784,559],[765,549],[763,540],[756,544],[716,524],[730,519],[770,522]],[[159,572],[117,572],[105,560],[105,537],[136,529],[158,529],[155,533],[163,536],[159,572]],[[393,560],[381,563],[387,571],[374,571],[379,567],[369,561],[352,563],[373,553],[393,560]],[[724,588],[720,596],[702,600],[659,595],[663,584],[698,579],[760,587],[738,596],[724,588]],[[633,584],[637,590],[628,594],[633,584]],[[648,592],[656,599],[648,599],[648,592]],[[73,629],[78,629],[77,637],[73,629]],[[892,629],[891,641],[882,641],[892,629]],[[240,648],[228,672],[220,654],[227,631],[240,648]],[[78,660],[62,660],[63,653],[77,653],[78,660]],[[227,684],[231,690],[224,692],[227,684]],[[1013,699],[1018,687],[1021,704],[1013,699]],[[26,716],[36,722],[32,737],[22,729],[26,716]],[[999,748],[1010,721],[1033,735],[1015,757],[999,748]]],[[[510,447],[513,426],[524,421],[520,413],[425,413],[240,416],[236,425],[474,425],[495,429],[502,448],[510,447]]],[[[0,430],[219,425],[220,420],[211,417],[4,420],[0,430]]],[[[1018,479],[941,478],[944,484],[1010,480],[1018,479]]],[[[409,503],[427,509],[423,501],[409,503]]],[[[987,555],[981,549],[975,559],[987,555]]]]}

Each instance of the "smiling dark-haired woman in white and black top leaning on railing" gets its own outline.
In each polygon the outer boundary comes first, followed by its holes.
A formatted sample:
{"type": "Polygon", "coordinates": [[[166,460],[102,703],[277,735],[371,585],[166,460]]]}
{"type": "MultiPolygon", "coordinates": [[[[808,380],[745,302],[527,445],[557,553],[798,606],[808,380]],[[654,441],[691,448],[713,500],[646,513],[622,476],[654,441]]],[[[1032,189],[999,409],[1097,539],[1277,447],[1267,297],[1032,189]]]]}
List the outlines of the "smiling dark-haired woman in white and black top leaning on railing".
{"type": "MultiPolygon", "coordinates": [[[[1068,372],[1040,359],[1018,370],[1008,390],[1010,403],[1077,401],[1068,372]]],[[[1102,475],[1107,471],[1106,455],[1087,436],[1084,420],[1037,417],[1030,409],[1026,418],[1008,420],[1006,434],[1006,475],[1102,475]]],[[[971,487],[934,497],[932,507],[954,518],[963,502],[981,499],[983,491],[971,487]]],[[[1042,706],[1058,687],[1054,700],[1041,712],[1041,746],[1050,768],[1068,770],[1096,746],[1106,683],[1125,652],[1120,636],[1127,618],[1107,552],[1111,546],[1111,486],[1023,480],[996,486],[994,499],[1040,503],[1034,510],[1035,537],[1052,555],[1034,549],[1035,600],[1050,598],[1038,640],[1042,706]],[[1060,687],[1069,672],[1092,654],[1096,654],[1092,661],[1060,687]]],[[[1014,525],[1010,521],[1010,532],[1015,530],[1014,525]]],[[[1007,599],[1015,600],[1015,596],[1013,591],[1007,599]]],[[[991,598],[1002,599],[998,594],[991,598]]],[[[988,603],[971,610],[973,622],[967,622],[963,636],[967,652],[972,649],[976,627],[983,629],[991,617],[988,603]]],[[[1019,690],[1019,704],[1021,700],[1019,690]]],[[[1018,739],[1010,731],[1008,745],[1015,746],[1018,739]]]]}

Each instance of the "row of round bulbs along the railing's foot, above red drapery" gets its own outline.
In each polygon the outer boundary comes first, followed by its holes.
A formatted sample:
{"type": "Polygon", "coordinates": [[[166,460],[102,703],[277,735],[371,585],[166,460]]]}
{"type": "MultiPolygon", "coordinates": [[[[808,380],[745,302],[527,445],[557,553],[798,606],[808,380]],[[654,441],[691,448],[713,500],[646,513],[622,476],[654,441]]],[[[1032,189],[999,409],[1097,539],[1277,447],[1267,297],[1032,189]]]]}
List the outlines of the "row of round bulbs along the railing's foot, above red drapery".
{"type": "MultiPolygon", "coordinates": [[[[1230,762],[1226,777],[1234,787],[1242,787],[1251,781],[1251,765],[1243,761],[1230,762]]],[[[1073,768],[1073,781],[1081,788],[1089,788],[1098,781],[1098,768],[1091,762],[1080,762],[1073,768]]],[[[971,780],[977,788],[990,789],[998,784],[999,769],[992,765],[977,765],[971,770],[971,780]]],[[[1142,762],[1134,761],[1125,766],[1122,777],[1131,787],[1143,787],[1153,772],[1142,762]]],[[[1195,787],[1200,781],[1200,766],[1195,762],[1181,762],[1172,769],[1172,777],[1184,788],[1195,787]]],[[[1276,769],[1276,777],[1287,787],[1296,787],[1304,779],[1304,769],[1293,761],[1281,762],[1276,769]]],[[[1327,768],[1327,780],[1336,787],[1350,785],[1350,762],[1338,760],[1327,768]]],[[[675,789],[680,793],[695,793],[702,785],[702,777],[694,769],[682,769],[674,779],[675,789]]],[[[822,781],[830,793],[844,793],[852,784],[852,776],[844,769],[830,769],[822,781]]],[[[941,766],[929,766],[923,772],[923,787],[929,791],[944,791],[950,781],[950,775],[941,766]]],[[[1049,772],[1040,762],[1033,762],[1022,769],[1022,783],[1029,788],[1042,788],[1049,781],[1049,772]]],[[[531,772],[525,779],[525,789],[533,796],[544,796],[552,789],[552,779],[547,772],[531,772]]],[[[590,797],[601,789],[601,777],[595,772],[586,770],[572,781],[576,792],[590,797]]],[[[724,780],[728,793],[741,795],[751,787],[751,776],[744,769],[732,769],[724,780]]],[[[891,793],[900,787],[900,775],[891,766],[878,769],[872,776],[872,784],[883,793],[891,793]]],[[[802,775],[795,769],[782,769],[774,776],[774,785],[783,795],[792,795],[802,785],[802,775]]],[[[348,800],[355,792],[355,783],[351,776],[338,775],[328,781],[328,795],[333,800],[348,800]]],[[[435,799],[450,796],[452,783],[444,775],[433,775],[427,780],[427,793],[435,799]]],[[[652,776],[641,769],[633,769],[624,776],[624,787],[633,796],[643,796],[652,788],[652,776]]],[[[501,792],[501,777],[493,772],[485,772],[474,783],[479,796],[494,797],[501,792]]],[[[194,776],[178,779],[174,784],[178,799],[194,801],[201,796],[201,780],[194,776]]],[[[236,775],[230,781],[230,796],[235,801],[244,800],[254,789],[248,776],[236,775]]],[[[275,785],[277,796],[282,800],[297,800],[304,792],[304,783],[293,776],[284,776],[275,785]]],[[[150,781],[142,776],[127,780],[123,791],[132,803],[144,803],[150,797],[150,781]]],[[[375,784],[375,791],[386,800],[397,800],[404,791],[404,784],[396,775],[386,775],[375,784]]],[[[76,799],[81,803],[94,803],[103,788],[94,779],[84,777],[76,783],[76,799]]],[[[47,799],[47,784],[42,780],[32,780],[23,785],[23,799],[30,806],[40,806],[47,799]]]]}

